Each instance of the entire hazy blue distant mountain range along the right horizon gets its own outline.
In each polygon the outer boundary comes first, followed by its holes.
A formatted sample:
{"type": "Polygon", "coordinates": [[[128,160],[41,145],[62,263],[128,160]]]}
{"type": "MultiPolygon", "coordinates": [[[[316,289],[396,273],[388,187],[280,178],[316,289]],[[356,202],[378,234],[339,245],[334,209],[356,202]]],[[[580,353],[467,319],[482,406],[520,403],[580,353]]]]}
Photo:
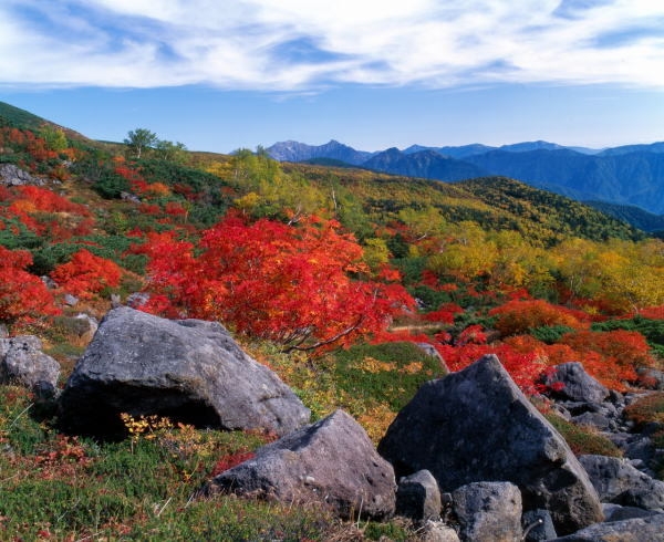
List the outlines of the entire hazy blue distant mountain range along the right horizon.
{"type": "Polygon", "coordinates": [[[377,153],[356,150],[331,140],[312,146],[298,142],[267,148],[280,161],[330,159],[376,171],[443,181],[499,175],[580,201],[635,206],[664,215],[664,142],[592,149],[549,142],[501,147],[413,145],[377,153]]]}

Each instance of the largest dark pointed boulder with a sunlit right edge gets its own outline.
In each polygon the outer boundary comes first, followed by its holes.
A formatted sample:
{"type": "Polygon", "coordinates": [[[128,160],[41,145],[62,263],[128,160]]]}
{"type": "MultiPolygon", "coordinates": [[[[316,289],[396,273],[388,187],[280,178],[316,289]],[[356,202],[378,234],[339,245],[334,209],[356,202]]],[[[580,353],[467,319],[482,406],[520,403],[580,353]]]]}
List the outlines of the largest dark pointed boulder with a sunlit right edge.
{"type": "Polygon", "coordinates": [[[494,355],[424,384],[378,452],[398,477],[428,469],[440,491],[510,481],[523,509],[549,510],[559,533],[602,520],[598,493],[567,442],[494,355]]]}

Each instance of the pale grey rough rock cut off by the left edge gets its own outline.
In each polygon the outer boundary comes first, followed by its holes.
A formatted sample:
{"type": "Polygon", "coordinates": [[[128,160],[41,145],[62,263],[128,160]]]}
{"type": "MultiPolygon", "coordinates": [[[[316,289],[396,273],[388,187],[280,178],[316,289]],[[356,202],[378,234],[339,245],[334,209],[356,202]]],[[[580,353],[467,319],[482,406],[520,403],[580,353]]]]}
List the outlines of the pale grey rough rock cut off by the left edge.
{"type": "Polygon", "coordinates": [[[20,384],[40,395],[55,393],[60,364],[42,352],[33,335],[0,338],[0,383],[20,384]]]}

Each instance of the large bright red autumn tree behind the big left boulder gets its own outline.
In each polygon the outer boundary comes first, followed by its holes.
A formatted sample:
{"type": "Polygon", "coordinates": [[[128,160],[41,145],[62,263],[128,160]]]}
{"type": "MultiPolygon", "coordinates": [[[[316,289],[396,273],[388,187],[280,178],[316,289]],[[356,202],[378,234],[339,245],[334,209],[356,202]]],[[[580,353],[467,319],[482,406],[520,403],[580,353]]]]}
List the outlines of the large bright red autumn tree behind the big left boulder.
{"type": "Polygon", "coordinates": [[[219,320],[284,350],[347,343],[413,305],[400,284],[359,279],[362,248],[334,221],[229,216],[197,247],[154,233],[137,250],[149,258],[148,310],[219,320]]]}

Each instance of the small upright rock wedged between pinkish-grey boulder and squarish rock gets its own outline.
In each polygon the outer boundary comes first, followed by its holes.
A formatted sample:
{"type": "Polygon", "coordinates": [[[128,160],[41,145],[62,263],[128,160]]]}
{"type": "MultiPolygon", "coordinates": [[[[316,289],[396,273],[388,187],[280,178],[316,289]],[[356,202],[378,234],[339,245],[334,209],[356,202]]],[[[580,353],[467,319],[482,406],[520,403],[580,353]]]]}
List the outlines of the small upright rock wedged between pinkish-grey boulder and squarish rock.
{"type": "Polygon", "coordinates": [[[440,490],[428,470],[402,478],[396,490],[396,513],[412,520],[437,520],[440,517],[440,490]]]}

